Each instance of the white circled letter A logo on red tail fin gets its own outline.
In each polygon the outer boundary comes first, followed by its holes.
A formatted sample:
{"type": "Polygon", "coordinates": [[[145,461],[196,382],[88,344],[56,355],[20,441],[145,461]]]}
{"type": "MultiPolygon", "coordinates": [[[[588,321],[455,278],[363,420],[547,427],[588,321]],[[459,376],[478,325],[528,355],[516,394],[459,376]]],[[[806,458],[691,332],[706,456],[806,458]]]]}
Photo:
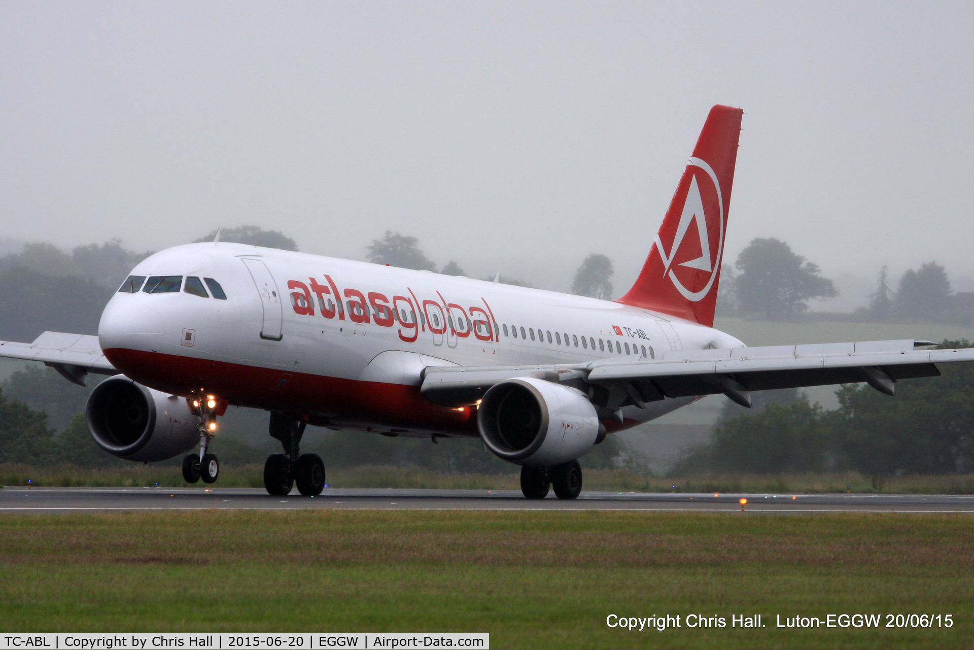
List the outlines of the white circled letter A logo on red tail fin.
{"type": "Polygon", "coordinates": [[[663,243],[659,235],[656,235],[656,250],[659,251],[659,256],[662,257],[663,276],[669,277],[670,282],[680,291],[683,297],[692,302],[697,302],[706,297],[711,287],[714,286],[714,282],[717,280],[717,271],[720,268],[721,257],[724,252],[724,199],[721,196],[721,184],[717,180],[717,174],[714,173],[710,166],[699,158],[691,158],[687,169],[693,171],[693,168],[696,168],[700,172],[705,172],[706,176],[699,173],[691,173],[690,187],[687,190],[687,196],[684,198],[683,212],[680,215],[680,223],[677,225],[676,234],[673,237],[673,244],[670,247],[669,253],[667,254],[666,249],[663,248],[663,243]],[[703,196],[700,194],[700,186],[697,184],[698,178],[705,184],[712,183],[712,187],[705,187],[704,191],[708,195],[708,198],[716,197],[717,206],[713,206],[714,202],[712,200],[708,202],[711,204],[710,211],[715,212],[709,215],[711,217],[709,219],[707,218],[707,210],[704,210],[704,201],[703,196]],[[694,221],[696,234],[699,238],[700,255],[693,259],[679,262],[676,266],[695,271],[695,273],[692,272],[693,282],[689,283],[693,287],[698,287],[703,277],[706,277],[706,285],[697,291],[685,287],[677,277],[677,269],[673,268],[673,262],[677,257],[677,253],[680,251],[680,247],[683,246],[687,231],[694,221]],[[716,238],[717,240],[717,254],[715,256],[711,256],[710,242],[712,238],[716,238]]]}

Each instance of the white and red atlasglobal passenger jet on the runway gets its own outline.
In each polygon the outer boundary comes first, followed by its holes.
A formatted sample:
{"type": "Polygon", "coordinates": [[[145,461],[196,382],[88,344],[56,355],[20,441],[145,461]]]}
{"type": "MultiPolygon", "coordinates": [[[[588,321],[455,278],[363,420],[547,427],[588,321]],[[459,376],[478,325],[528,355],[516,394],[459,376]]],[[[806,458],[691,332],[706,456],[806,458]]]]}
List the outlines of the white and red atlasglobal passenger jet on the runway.
{"type": "MultiPolygon", "coordinates": [[[[578,458],[619,430],[703,396],[938,375],[974,350],[927,341],[746,347],[712,327],[742,111],[714,106],[639,278],[616,301],[277,249],[211,242],[140,262],[98,335],[44,332],[0,356],[84,385],[95,442],[150,462],[193,449],[188,482],[229,404],[271,412],[274,495],[321,492],[308,424],[384,436],[479,438],[541,499],[581,491],[578,458]]],[[[363,439],[362,444],[368,441],[363,439]]]]}

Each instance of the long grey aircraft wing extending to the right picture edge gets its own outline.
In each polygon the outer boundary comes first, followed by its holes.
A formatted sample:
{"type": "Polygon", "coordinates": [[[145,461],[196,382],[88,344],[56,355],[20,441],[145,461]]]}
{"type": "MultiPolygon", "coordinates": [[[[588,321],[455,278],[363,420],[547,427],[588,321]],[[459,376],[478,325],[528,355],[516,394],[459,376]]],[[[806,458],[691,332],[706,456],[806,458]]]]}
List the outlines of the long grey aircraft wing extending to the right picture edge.
{"type": "Polygon", "coordinates": [[[974,361],[974,349],[922,349],[931,346],[929,341],[860,341],[686,350],[638,362],[614,359],[562,365],[427,367],[421,391],[437,403],[471,404],[496,383],[534,376],[562,383],[574,381],[576,387],[582,387],[581,380],[626,396],[610,407],[720,393],[750,405],[750,391],[828,384],[868,382],[892,395],[899,379],[939,375],[936,363],[974,361]]]}

